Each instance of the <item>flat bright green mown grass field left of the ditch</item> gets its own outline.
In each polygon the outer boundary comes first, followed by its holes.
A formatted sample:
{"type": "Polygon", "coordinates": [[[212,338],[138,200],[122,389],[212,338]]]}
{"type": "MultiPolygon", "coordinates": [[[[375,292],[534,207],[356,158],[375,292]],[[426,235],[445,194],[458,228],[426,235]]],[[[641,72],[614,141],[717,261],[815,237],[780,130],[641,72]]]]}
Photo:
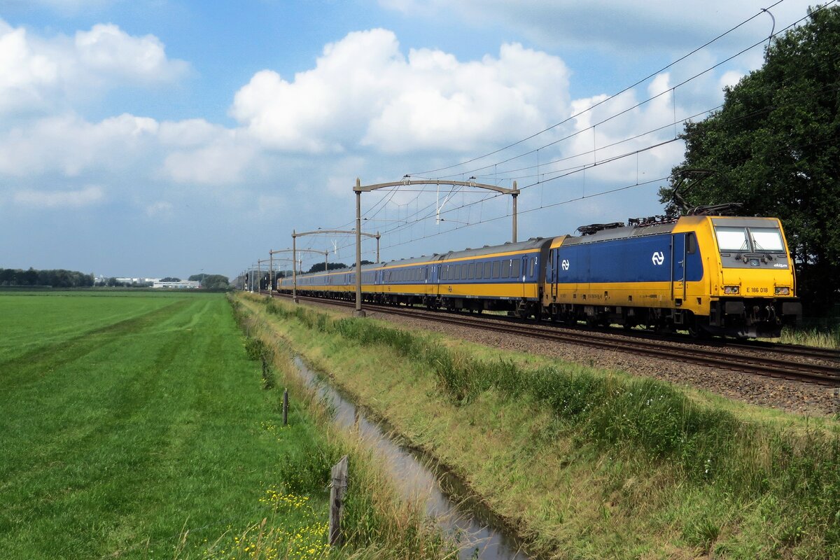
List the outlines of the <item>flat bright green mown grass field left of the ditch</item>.
{"type": "Polygon", "coordinates": [[[0,362],[2,557],[173,557],[182,530],[213,542],[266,516],[276,395],[223,296],[108,298],[98,317],[104,298],[27,299],[0,337],[45,308],[64,324],[0,362]]]}

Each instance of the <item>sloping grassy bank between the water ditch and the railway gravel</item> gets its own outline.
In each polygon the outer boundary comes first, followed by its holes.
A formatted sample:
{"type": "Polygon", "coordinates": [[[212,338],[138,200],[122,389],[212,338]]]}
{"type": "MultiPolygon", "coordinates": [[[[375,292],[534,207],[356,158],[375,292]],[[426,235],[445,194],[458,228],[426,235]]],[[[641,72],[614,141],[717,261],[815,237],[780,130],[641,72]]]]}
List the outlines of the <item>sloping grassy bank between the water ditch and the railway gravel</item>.
{"type": "Polygon", "coordinates": [[[539,552],[840,556],[836,432],[746,422],[627,374],[480,360],[370,320],[246,305],[539,552]]]}

